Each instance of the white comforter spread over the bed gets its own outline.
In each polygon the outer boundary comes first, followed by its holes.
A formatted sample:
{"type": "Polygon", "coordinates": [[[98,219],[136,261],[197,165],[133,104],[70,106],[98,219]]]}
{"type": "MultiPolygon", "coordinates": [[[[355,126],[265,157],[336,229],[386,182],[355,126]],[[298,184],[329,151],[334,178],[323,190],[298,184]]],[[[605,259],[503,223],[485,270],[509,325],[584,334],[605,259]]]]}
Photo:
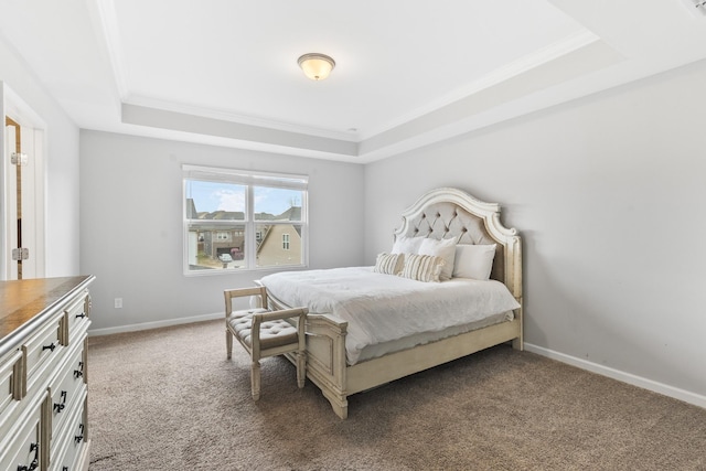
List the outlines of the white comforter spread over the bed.
{"type": "Polygon", "coordinates": [[[349,364],[355,364],[368,345],[520,308],[499,281],[453,278],[422,282],[376,274],[372,267],[284,271],[263,277],[261,282],[290,307],[306,306],[310,313],[330,313],[347,321],[349,364]]]}

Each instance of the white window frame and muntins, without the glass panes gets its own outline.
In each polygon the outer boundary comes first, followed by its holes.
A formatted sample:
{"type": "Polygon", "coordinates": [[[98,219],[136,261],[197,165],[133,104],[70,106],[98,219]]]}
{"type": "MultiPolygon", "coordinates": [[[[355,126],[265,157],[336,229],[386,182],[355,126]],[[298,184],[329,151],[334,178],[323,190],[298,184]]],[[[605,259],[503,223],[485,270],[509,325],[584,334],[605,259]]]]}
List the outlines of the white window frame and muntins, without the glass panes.
{"type": "Polygon", "coordinates": [[[183,254],[182,267],[183,274],[188,277],[199,276],[217,276],[233,275],[234,272],[244,271],[265,271],[265,270],[284,270],[300,269],[309,266],[309,217],[308,217],[308,199],[309,199],[309,176],[302,174],[288,173],[270,173],[260,171],[250,171],[243,169],[231,169],[221,167],[203,167],[193,164],[182,164],[182,222],[183,222],[183,254]],[[244,220],[207,220],[201,223],[200,220],[190,220],[190,207],[188,204],[188,181],[200,180],[204,182],[223,182],[228,184],[237,184],[245,186],[245,210],[244,220]],[[272,188],[285,190],[301,191],[301,218],[300,221],[263,221],[255,217],[255,188],[272,188]],[[244,261],[243,267],[235,269],[190,269],[189,245],[190,245],[190,227],[203,224],[208,226],[223,226],[226,228],[233,226],[243,226],[244,229],[244,261]],[[261,225],[293,225],[301,226],[301,263],[291,265],[268,265],[257,266],[257,234],[261,225]]]}

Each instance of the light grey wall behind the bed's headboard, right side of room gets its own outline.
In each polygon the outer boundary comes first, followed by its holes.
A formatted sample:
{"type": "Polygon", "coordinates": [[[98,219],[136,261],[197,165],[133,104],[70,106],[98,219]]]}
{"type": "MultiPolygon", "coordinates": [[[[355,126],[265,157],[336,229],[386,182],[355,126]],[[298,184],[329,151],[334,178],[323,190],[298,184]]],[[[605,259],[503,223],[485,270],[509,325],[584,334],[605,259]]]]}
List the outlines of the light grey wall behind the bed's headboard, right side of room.
{"type": "Polygon", "coordinates": [[[523,236],[534,351],[706,407],[706,63],[366,165],[365,254],[457,186],[523,236]]]}

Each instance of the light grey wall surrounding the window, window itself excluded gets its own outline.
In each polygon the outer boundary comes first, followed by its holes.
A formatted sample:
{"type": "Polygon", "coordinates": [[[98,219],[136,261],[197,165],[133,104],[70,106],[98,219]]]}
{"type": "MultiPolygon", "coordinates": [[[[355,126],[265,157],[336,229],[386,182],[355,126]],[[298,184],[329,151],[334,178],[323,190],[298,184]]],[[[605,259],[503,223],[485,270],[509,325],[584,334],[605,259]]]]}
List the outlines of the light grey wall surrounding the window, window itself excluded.
{"type": "Polygon", "coordinates": [[[222,315],[224,289],[269,272],[182,274],[182,163],[309,175],[310,267],[363,263],[362,165],[82,130],[81,268],[97,277],[95,333],[222,315]]]}

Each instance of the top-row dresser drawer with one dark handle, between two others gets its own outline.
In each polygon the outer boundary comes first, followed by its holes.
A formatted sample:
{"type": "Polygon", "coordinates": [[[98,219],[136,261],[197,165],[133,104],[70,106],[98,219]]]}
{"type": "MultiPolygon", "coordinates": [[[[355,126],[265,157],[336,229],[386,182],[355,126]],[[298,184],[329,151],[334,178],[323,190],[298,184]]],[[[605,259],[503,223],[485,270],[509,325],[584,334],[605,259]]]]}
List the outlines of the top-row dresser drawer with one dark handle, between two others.
{"type": "Polygon", "coordinates": [[[39,331],[22,345],[25,357],[26,385],[23,394],[32,388],[43,376],[50,365],[61,357],[64,346],[61,343],[63,312],[50,319],[39,331]]]}

